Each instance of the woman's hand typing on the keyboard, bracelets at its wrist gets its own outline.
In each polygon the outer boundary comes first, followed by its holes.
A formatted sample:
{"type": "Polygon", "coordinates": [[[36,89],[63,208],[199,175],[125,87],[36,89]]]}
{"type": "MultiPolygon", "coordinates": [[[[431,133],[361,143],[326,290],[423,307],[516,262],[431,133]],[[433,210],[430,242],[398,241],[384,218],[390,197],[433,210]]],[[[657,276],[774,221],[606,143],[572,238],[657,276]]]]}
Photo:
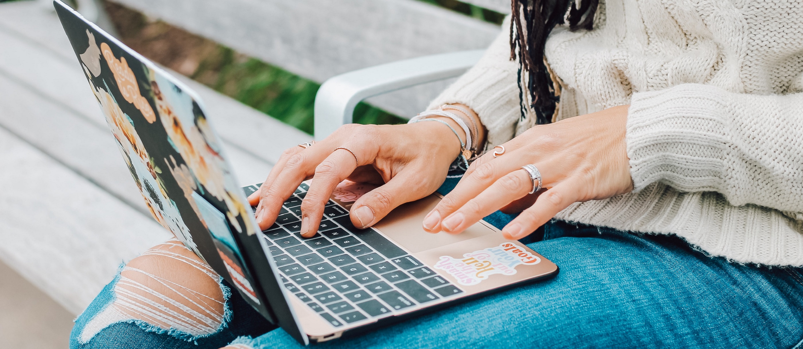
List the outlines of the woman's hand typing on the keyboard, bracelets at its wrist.
{"type": "MultiPolygon", "coordinates": [[[[453,127],[459,130],[457,124],[453,127]]],[[[251,205],[259,204],[257,222],[261,229],[267,229],[301,181],[312,177],[301,203],[301,235],[312,237],[318,231],[324,206],[340,181],[381,185],[363,195],[351,208],[354,226],[365,228],[398,205],[434,193],[446,179],[449,165],[459,152],[460,143],[454,132],[438,122],[347,124],[308,148],[287,149],[248,201],[251,205]],[[340,147],[349,148],[354,154],[340,147]]]]}

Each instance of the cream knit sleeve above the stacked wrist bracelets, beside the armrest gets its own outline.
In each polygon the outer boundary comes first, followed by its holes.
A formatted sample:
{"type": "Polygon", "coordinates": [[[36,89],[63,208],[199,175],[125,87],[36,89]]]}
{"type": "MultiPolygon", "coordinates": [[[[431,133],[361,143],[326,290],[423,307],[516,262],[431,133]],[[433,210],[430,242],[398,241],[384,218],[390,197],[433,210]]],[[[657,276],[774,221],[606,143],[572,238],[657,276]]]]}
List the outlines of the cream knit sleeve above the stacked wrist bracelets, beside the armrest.
{"type": "Polygon", "coordinates": [[[510,60],[510,17],[502,23],[502,33],[491,43],[483,58],[446,88],[428,109],[444,103],[463,103],[474,110],[487,129],[491,147],[515,136],[519,121],[518,63],[510,60]]]}

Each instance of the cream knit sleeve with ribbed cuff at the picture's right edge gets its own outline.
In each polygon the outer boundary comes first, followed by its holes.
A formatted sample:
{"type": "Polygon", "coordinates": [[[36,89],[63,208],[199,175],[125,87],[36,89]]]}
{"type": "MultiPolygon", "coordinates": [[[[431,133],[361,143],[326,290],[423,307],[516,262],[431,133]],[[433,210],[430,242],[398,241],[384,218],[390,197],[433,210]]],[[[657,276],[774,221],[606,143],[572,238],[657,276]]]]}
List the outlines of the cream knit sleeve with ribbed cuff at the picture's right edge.
{"type": "Polygon", "coordinates": [[[803,94],[686,83],[634,93],[627,154],[636,190],[657,181],[803,216],[803,94]]]}

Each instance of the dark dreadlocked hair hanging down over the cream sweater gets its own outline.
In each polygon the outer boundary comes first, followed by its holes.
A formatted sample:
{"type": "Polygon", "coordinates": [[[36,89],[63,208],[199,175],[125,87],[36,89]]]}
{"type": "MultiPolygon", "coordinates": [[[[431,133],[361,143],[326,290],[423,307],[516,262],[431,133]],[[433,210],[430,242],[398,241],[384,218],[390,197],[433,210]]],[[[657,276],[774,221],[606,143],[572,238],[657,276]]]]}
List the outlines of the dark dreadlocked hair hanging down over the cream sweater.
{"type": "Polygon", "coordinates": [[[599,0],[512,0],[510,59],[518,54],[521,120],[532,108],[536,124],[552,122],[559,97],[544,63],[547,36],[567,21],[569,30],[591,30],[598,5],[599,0]]]}

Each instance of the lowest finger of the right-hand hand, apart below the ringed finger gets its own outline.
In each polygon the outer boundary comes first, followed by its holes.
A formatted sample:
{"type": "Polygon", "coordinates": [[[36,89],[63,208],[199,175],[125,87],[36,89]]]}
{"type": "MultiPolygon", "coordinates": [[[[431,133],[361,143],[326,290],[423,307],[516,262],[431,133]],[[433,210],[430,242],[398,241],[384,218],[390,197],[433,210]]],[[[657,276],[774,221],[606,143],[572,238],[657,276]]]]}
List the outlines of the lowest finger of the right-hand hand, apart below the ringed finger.
{"type": "Polygon", "coordinates": [[[579,185],[573,181],[562,181],[541,193],[535,204],[504,226],[502,236],[514,240],[528,236],[577,201],[579,185]]]}

